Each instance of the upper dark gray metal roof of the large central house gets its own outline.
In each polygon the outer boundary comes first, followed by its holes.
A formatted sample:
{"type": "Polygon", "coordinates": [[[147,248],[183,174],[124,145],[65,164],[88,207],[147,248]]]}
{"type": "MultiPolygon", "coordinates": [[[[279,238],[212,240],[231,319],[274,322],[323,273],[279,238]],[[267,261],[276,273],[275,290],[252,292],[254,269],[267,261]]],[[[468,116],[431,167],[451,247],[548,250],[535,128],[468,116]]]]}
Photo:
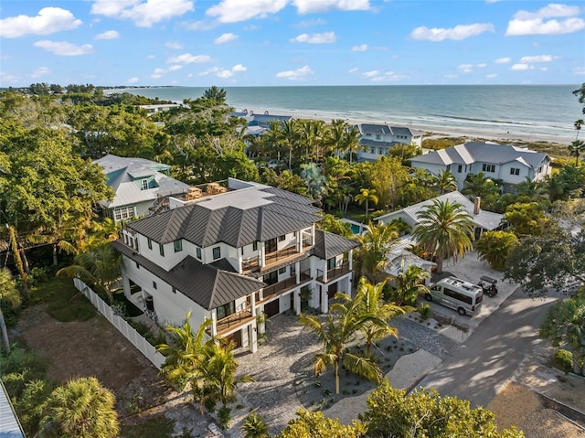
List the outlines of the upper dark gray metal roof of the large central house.
{"type": "Polygon", "coordinates": [[[185,239],[203,248],[219,242],[240,248],[321,220],[315,214],[321,209],[313,207],[311,199],[274,187],[250,187],[209,198],[127,227],[159,243],[185,239]]]}

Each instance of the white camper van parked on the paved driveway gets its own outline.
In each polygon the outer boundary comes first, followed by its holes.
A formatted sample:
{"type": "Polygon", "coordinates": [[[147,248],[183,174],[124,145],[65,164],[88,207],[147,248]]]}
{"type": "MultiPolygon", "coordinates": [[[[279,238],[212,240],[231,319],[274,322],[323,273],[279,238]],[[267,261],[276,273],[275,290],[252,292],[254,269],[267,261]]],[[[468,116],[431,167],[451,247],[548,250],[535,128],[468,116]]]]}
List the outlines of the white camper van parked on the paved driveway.
{"type": "Polygon", "coordinates": [[[425,294],[427,301],[434,301],[456,310],[459,315],[479,313],[484,299],[484,291],[477,284],[469,283],[457,277],[443,278],[429,288],[431,294],[425,294]]]}

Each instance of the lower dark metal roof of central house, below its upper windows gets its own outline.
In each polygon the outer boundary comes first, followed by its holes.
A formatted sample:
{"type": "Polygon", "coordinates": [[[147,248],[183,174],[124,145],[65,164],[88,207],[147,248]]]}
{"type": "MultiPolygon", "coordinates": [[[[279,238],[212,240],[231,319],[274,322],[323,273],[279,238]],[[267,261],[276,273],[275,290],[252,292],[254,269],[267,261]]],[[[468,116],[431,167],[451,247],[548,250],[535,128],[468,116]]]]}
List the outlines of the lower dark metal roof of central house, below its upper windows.
{"type": "Polygon", "coordinates": [[[226,265],[229,262],[203,264],[189,255],[165,271],[120,240],[112,242],[112,246],[207,310],[259,291],[265,285],[252,277],[230,272],[233,268],[226,265]]]}

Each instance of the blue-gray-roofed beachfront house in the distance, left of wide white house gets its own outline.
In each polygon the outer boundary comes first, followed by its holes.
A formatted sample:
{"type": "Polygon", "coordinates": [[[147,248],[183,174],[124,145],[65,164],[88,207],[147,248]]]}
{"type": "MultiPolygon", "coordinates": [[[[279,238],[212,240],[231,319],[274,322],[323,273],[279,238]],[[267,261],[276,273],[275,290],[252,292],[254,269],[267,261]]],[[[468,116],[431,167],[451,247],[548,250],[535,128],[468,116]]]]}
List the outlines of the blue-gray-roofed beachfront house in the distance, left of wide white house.
{"type": "Polygon", "coordinates": [[[414,144],[422,147],[422,133],[403,126],[388,124],[359,123],[356,125],[361,135],[357,159],[376,161],[380,156],[388,156],[390,149],[414,144]]]}

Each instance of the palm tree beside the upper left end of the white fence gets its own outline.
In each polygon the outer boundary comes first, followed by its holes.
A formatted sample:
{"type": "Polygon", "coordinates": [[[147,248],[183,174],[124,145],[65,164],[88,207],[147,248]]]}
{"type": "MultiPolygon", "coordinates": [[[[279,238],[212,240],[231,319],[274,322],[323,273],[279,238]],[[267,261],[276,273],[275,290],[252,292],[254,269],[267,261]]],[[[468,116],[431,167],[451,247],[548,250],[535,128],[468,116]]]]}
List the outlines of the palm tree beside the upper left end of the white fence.
{"type": "Polygon", "coordinates": [[[113,302],[113,284],[120,279],[122,258],[120,252],[112,248],[110,242],[83,252],[73,259],[73,264],[59,269],[57,275],[79,278],[98,289],[98,293],[106,294],[110,303],[113,302]]]}

